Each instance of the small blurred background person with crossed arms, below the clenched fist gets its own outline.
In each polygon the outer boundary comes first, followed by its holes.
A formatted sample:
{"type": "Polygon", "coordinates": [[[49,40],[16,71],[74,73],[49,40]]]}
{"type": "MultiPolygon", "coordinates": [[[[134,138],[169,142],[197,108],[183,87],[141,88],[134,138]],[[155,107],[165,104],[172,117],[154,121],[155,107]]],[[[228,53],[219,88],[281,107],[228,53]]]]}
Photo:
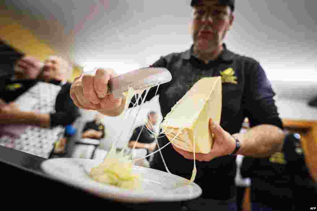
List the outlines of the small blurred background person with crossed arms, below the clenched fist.
{"type": "Polygon", "coordinates": [[[93,121],[85,124],[81,138],[103,139],[105,137],[105,125],[100,121],[100,114],[96,113],[93,121]]]}

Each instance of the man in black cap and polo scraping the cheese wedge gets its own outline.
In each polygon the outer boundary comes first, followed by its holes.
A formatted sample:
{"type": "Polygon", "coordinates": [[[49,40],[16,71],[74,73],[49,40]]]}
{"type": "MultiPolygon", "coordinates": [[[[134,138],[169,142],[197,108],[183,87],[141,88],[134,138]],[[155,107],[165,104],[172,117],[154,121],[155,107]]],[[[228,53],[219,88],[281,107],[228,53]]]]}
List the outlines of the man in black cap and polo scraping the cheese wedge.
{"type": "MultiPolygon", "coordinates": [[[[203,189],[203,194],[201,199],[186,206],[195,210],[197,203],[205,204],[205,208],[235,210],[234,154],[267,157],[281,150],[283,126],[273,99],[275,93],[261,65],[254,59],[230,52],[223,43],[234,21],[234,1],[192,1],[191,6],[194,10],[193,45],[187,51],[161,57],[152,65],[165,67],[172,75],[172,80],[161,84],[158,90],[161,112],[165,117],[199,79],[221,76],[221,121],[210,120],[209,123],[210,132],[214,134],[213,147],[208,154],[196,153],[194,182],[203,189]],[[239,131],[245,117],[249,118],[251,129],[242,134],[239,131]]],[[[75,104],[105,115],[119,115],[125,99],[114,99],[107,93],[107,82],[113,77],[113,70],[98,69],[95,76],[76,78],[71,88],[75,104]]],[[[152,88],[147,96],[153,97],[155,91],[156,88],[152,88]]],[[[159,142],[163,146],[169,140],[164,137],[159,142]]],[[[171,173],[190,179],[193,153],[171,145],[162,153],[171,173]]],[[[159,153],[154,155],[151,167],[166,171],[159,153]]],[[[204,208],[198,206],[196,209],[204,208]]]]}

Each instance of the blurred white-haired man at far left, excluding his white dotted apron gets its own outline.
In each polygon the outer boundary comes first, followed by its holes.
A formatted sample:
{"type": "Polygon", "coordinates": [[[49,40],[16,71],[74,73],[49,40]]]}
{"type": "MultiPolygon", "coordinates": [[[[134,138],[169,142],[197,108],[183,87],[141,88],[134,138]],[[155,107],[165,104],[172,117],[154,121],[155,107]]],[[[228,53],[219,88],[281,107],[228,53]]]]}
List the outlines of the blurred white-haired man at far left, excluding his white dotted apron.
{"type": "Polygon", "coordinates": [[[0,93],[0,98],[8,102],[0,114],[0,124],[34,124],[44,128],[72,124],[80,114],[69,96],[71,87],[71,84],[67,82],[71,74],[69,72],[72,71],[68,63],[61,58],[54,57],[44,62],[40,79],[61,86],[55,101],[55,112],[49,114],[22,111],[14,103],[15,98],[35,86],[39,82],[38,79],[8,80],[5,89],[0,93]]]}

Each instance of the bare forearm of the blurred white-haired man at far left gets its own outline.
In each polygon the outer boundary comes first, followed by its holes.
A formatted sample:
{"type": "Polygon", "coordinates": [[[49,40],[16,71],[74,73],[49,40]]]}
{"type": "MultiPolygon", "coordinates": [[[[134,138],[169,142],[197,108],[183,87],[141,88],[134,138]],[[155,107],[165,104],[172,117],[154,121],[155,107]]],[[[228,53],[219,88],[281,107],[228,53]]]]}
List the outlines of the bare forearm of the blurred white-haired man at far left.
{"type": "Polygon", "coordinates": [[[50,126],[49,114],[28,111],[17,111],[14,114],[0,113],[0,124],[33,124],[39,127],[50,126]]]}

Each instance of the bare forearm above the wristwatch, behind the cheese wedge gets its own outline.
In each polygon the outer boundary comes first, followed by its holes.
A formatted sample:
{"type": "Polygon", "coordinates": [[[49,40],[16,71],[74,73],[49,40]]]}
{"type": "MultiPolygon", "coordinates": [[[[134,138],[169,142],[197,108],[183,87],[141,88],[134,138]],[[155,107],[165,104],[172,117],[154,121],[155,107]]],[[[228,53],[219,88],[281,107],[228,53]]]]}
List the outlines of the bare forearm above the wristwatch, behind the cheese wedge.
{"type": "Polygon", "coordinates": [[[237,154],[263,158],[282,149],[285,133],[274,125],[258,125],[246,133],[233,134],[241,142],[237,154]]]}

